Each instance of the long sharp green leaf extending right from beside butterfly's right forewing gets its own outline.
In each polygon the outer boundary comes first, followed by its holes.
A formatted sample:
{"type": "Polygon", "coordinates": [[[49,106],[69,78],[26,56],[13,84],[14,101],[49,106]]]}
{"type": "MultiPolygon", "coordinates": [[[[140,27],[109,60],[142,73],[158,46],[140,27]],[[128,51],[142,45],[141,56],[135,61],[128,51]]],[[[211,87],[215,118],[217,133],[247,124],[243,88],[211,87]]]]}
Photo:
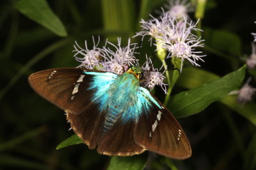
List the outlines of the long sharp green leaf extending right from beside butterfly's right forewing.
{"type": "Polygon", "coordinates": [[[188,117],[204,110],[212,102],[220,101],[229,92],[237,89],[244,79],[245,69],[246,66],[243,66],[223,78],[180,92],[170,99],[168,108],[175,117],[188,117]]]}

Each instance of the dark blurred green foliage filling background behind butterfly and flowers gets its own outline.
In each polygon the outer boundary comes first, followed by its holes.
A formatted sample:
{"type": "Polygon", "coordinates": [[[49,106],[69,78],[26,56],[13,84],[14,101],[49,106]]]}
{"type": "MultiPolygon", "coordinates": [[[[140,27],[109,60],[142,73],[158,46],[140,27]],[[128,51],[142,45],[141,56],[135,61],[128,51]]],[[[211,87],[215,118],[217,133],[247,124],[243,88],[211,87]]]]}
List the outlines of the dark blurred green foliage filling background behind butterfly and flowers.
{"type": "MultiPolygon", "coordinates": [[[[191,2],[196,5],[198,1],[191,2]]],[[[100,36],[102,46],[106,38],[115,43],[119,36],[126,45],[127,38],[140,31],[140,19],[147,19],[148,13],[155,15],[164,4],[165,0],[1,1],[0,169],[256,168],[255,100],[243,105],[237,103],[236,96],[227,95],[241,87],[245,71],[243,82],[252,76],[251,84],[256,86],[255,69],[242,67],[242,58],[251,53],[251,32],[256,32],[256,2],[249,0],[208,0],[196,8],[196,16],[189,13],[193,20],[201,17],[199,26],[204,30],[201,36],[205,39],[207,57],[200,69],[185,63],[168,107],[175,111],[175,102],[189,106],[195,97],[202,103],[210,101],[204,106],[194,105],[193,113],[182,111],[176,115],[182,117],[200,111],[179,119],[191,143],[191,158],[171,161],[150,152],[111,158],[83,144],[56,150],[61,141],[74,133],[68,131],[70,125],[65,123],[63,111],[29,87],[29,74],[54,67],[78,66],[72,57],[74,41],[83,44],[87,39],[92,46],[92,36],[100,36]],[[221,88],[224,91],[220,96],[216,90],[221,88]],[[202,95],[196,92],[198,89],[202,95]],[[184,90],[189,90],[188,94],[184,90]],[[205,96],[207,92],[216,92],[217,97],[205,96]]],[[[140,39],[132,41],[139,43],[140,39]]],[[[146,52],[151,54],[154,49],[144,41],[138,56],[141,63],[146,52]]],[[[155,62],[156,66],[160,63],[157,59],[155,62]]],[[[160,88],[155,89],[155,94],[163,101],[160,88]]],[[[75,136],[66,142],[65,145],[75,144],[79,139],[75,136]]]]}

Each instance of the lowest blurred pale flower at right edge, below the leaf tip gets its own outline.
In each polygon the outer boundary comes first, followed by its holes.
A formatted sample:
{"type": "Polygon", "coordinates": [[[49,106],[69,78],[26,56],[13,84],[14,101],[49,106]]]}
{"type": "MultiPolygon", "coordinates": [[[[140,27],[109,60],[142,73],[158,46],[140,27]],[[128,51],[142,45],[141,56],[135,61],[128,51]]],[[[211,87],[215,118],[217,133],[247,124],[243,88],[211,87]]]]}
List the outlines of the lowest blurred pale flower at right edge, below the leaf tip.
{"type": "Polygon", "coordinates": [[[244,104],[248,101],[252,101],[252,96],[256,92],[256,88],[253,88],[249,85],[251,79],[252,78],[249,78],[244,84],[244,86],[239,90],[237,97],[237,101],[239,101],[239,103],[244,104]]]}

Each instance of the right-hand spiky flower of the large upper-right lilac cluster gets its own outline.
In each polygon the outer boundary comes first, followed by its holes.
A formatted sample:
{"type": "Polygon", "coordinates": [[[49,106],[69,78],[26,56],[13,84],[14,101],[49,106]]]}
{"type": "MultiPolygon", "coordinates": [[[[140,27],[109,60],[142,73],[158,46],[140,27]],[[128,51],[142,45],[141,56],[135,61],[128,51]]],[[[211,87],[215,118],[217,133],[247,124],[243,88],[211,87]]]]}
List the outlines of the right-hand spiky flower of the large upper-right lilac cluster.
{"type": "Polygon", "coordinates": [[[170,17],[168,13],[164,14],[164,25],[168,25],[169,29],[163,29],[163,34],[158,36],[159,41],[163,44],[161,47],[168,50],[168,57],[179,57],[182,59],[189,60],[191,64],[200,66],[197,61],[202,60],[205,55],[200,55],[202,52],[196,52],[196,47],[204,47],[202,39],[197,38],[192,31],[198,31],[196,24],[188,22],[187,17],[182,20],[177,20],[170,17]],[[172,30],[172,34],[170,31],[172,30]]]}

